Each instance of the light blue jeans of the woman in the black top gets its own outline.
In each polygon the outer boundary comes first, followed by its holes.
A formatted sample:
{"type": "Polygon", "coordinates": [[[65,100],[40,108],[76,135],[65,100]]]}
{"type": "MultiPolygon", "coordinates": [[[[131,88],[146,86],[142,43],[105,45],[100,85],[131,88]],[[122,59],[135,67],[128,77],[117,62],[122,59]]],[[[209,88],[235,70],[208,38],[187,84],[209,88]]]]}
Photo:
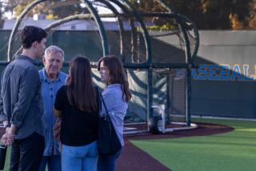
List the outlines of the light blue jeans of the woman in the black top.
{"type": "Polygon", "coordinates": [[[97,141],[83,146],[62,145],[62,171],[96,171],[97,141]]]}

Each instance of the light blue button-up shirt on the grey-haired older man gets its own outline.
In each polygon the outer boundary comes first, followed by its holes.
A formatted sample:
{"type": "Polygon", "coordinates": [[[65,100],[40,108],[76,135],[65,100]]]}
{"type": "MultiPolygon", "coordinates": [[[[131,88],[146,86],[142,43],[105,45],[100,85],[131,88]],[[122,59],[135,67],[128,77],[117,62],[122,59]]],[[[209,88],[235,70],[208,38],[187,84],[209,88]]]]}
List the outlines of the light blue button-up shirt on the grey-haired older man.
{"type": "Polygon", "coordinates": [[[43,155],[60,155],[58,150],[58,141],[54,141],[53,127],[56,122],[56,117],[53,114],[54,101],[58,89],[65,84],[67,75],[59,72],[57,79],[50,81],[46,75],[46,70],[39,70],[40,79],[42,82],[42,102],[44,107],[43,122],[46,131],[46,146],[43,155]]]}

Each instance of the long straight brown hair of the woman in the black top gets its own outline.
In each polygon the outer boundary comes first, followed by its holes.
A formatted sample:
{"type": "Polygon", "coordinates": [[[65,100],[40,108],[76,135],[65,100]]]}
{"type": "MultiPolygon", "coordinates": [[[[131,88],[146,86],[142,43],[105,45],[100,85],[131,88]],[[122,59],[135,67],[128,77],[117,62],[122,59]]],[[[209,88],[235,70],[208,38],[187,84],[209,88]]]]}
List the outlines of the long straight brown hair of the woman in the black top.
{"type": "Polygon", "coordinates": [[[78,109],[86,112],[98,111],[88,58],[78,56],[71,60],[70,76],[66,83],[67,97],[71,105],[76,105],[78,109]]]}

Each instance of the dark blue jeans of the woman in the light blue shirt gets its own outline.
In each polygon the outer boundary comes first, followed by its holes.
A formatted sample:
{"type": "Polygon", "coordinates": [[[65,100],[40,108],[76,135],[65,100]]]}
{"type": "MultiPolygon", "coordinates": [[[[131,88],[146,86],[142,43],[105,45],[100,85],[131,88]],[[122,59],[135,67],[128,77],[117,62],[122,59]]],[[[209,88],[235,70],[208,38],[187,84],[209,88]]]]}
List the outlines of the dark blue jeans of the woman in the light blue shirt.
{"type": "Polygon", "coordinates": [[[115,161],[118,159],[121,152],[122,152],[122,149],[120,149],[117,153],[110,156],[99,154],[98,171],[114,171],[115,161]]]}

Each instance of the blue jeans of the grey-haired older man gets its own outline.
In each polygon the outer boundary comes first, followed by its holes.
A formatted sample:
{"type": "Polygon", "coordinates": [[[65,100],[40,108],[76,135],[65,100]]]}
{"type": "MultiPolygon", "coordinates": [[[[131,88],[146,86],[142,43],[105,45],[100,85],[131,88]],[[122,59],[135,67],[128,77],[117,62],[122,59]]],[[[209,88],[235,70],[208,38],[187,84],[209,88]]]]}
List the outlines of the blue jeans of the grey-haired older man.
{"type": "Polygon", "coordinates": [[[48,171],[61,171],[62,170],[61,156],[53,155],[53,156],[42,157],[39,171],[45,171],[46,164],[47,164],[48,171]]]}

